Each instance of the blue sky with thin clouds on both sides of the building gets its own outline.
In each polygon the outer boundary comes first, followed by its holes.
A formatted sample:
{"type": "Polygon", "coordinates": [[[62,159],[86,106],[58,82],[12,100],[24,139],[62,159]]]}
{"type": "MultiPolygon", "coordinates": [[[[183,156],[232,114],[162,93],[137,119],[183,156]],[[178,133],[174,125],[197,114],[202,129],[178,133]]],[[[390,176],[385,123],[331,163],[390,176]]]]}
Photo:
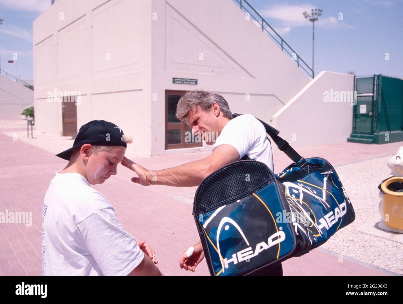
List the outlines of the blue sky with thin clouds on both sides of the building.
{"type": "MultiPolygon", "coordinates": [[[[247,1],[310,66],[312,22],[302,12],[323,10],[315,23],[316,74],[354,71],[403,78],[403,0],[247,1]]],[[[0,0],[2,70],[21,79],[33,78],[32,21],[49,6],[50,0],[0,0]],[[9,64],[13,53],[18,60],[9,64]]]]}

